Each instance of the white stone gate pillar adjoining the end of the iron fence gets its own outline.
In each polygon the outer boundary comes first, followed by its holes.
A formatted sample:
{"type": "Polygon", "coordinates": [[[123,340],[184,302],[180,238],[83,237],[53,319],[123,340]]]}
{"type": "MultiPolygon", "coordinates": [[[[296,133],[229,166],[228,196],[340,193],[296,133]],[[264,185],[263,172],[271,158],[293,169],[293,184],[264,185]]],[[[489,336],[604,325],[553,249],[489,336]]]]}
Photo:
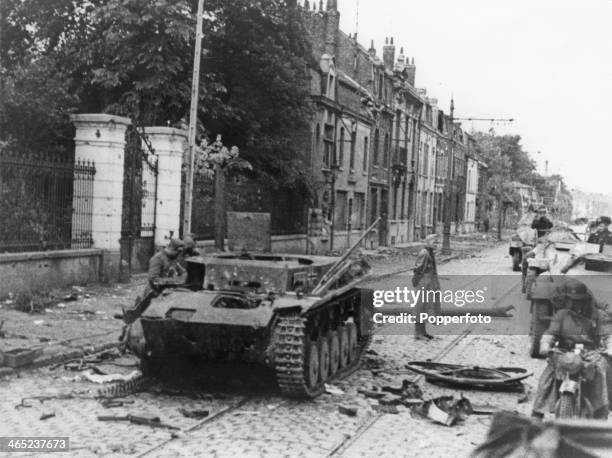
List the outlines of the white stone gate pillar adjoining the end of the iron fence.
{"type": "Polygon", "coordinates": [[[75,160],[95,162],[93,247],[104,250],[102,280],[119,276],[125,131],[128,118],[108,114],[75,114],[75,160]]]}

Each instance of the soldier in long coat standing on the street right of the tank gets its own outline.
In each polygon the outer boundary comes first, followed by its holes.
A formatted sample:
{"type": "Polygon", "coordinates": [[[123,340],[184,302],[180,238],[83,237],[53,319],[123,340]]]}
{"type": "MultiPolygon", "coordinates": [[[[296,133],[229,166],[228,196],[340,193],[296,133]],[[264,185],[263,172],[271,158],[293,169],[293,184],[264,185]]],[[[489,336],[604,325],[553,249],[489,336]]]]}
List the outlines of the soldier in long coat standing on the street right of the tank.
{"type": "MultiPolygon", "coordinates": [[[[436,246],[438,243],[438,236],[432,234],[425,238],[425,246],[419,252],[415,267],[414,276],[412,277],[412,286],[416,289],[423,288],[427,296],[428,291],[439,291],[440,281],[438,279],[438,268],[436,266],[436,246]]],[[[430,296],[438,296],[437,294],[429,294],[430,296]]],[[[434,297],[433,300],[428,301],[427,297],[421,297],[417,302],[414,311],[416,315],[416,322],[414,327],[415,339],[433,339],[431,334],[427,333],[425,329],[425,323],[419,322],[421,313],[429,313],[438,315],[440,313],[440,301],[439,298],[434,297]]]]}

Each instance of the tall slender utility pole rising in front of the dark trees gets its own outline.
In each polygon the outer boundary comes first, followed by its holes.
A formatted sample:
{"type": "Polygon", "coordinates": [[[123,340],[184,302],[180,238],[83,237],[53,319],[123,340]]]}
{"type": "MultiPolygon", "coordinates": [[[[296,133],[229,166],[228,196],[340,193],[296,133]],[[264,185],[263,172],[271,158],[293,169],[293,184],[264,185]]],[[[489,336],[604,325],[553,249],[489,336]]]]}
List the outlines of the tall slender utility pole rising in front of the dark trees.
{"type": "MultiPolygon", "coordinates": [[[[202,57],[202,20],[204,0],[198,0],[196,18],[196,42],[193,55],[193,79],[191,81],[191,107],[189,109],[189,154],[185,176],[185,205],[183,207],[183,235],[191,233],[191,209],[193,199],[193,168],[195,162],[195,139],[198,128],[198,99],[200,97],[200,59],[202,57]]],[[[215,170],[217,173],[218,169],[215,170]]]]}

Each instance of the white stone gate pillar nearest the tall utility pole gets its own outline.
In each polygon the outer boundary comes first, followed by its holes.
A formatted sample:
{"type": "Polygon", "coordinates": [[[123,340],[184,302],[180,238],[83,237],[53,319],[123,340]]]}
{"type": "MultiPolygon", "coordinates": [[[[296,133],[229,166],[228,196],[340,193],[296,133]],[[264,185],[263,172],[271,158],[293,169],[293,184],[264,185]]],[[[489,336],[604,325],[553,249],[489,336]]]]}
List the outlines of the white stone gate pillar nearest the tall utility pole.
{"type": "Polygon", "coordinates": [[[155,203],[155,246],[168,244],[170,234],[179,235],[181,220],[181,169],[187,132],[172,127],[145,127],[157,155],[157,202],[155,203]]]}

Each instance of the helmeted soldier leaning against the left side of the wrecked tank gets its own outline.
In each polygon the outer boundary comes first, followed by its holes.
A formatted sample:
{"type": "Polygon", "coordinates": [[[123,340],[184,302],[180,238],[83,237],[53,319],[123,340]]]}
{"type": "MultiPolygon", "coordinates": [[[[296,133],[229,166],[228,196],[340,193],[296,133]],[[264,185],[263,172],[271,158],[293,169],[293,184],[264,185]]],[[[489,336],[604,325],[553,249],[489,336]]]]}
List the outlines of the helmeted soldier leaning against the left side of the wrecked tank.
{"type": "Polygon", "coordinates": [[[134,308],[123,311],[123,321],[131,324],[144,312],[151,300],[161,293],[167,279],[177,277],[185,272],[179,264],[179,256],[184,243],[180,239],[171,239],[166,248],[158,251],[149,260],[147,285],[141,296],[136,299],[134,308]]]}

